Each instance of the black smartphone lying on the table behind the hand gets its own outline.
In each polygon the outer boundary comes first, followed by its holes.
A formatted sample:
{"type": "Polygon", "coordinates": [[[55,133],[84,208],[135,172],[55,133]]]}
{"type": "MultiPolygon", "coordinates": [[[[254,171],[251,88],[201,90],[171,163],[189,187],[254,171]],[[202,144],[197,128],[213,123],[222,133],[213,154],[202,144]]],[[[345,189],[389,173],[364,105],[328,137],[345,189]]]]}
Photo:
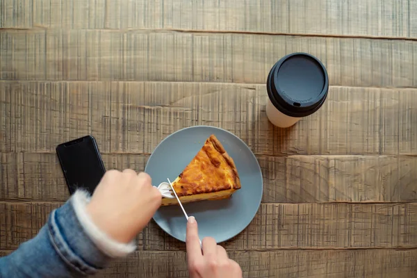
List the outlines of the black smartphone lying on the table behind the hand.
{"type": "Polygon", "coordinates": [[[60,144],[56,154],[70,193],[84,188],[92,194],[106,172],[95,138],[84,136],[60,144]]]}

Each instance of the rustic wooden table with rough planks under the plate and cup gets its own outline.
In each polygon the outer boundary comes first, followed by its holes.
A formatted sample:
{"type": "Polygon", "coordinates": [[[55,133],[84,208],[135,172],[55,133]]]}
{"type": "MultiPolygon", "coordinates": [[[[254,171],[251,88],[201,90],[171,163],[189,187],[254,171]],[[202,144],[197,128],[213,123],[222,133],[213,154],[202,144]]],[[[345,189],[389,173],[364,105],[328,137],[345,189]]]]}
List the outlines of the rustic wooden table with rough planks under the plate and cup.
{"type": "MultiPolygon", "coordinates": [[[[416,277],[417,1],[1,0],[0,250],[70,196],[55,154],[92,134],[108,169],[143,170],[186,126],[220,126],[262,167],[263,203],[224,243],[245,277],[416,277]],[[306,51],[320,111],[265,115],[265,79],[306,51]]],[[[187,277],[151,222],[98,277],[187,277]]]]}

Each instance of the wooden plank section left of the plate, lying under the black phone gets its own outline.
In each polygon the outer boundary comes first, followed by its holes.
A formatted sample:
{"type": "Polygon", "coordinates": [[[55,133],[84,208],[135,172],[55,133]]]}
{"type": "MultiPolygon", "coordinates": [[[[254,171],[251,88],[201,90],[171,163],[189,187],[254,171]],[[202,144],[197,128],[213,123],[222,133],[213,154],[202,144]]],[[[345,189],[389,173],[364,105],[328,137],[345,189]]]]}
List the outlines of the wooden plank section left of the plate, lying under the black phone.
{"type": "MultiPolygon", "coordinates": [[[[149,156],[102,155],[106,170],[145,169],[149,156]]],[[[56,154],[0,154],[0,199],[61,201],[70,197],[56,154]]]]}

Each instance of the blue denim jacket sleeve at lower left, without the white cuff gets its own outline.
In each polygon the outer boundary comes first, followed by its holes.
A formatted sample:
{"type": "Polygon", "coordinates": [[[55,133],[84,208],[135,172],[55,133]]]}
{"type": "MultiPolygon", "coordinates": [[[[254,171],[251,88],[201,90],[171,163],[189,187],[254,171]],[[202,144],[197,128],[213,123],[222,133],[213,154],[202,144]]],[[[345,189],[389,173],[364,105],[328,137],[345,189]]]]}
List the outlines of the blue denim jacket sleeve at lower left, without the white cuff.
{"type": "Polygon", "coordinates": [[[85,277],[110,260],[85,234],[68,201],[49,215],[35,238],[0,258],[0,277],[85,277]]]}

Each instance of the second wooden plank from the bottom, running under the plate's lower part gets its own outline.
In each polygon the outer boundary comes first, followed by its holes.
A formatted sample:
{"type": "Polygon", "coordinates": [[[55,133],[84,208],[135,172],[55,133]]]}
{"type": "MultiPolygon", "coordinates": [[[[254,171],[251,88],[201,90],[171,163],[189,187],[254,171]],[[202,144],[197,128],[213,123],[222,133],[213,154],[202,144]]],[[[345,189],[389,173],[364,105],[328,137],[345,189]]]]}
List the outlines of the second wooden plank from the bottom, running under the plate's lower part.
{"type": "MultiPolygon", "coordinates": [[[[0,248],[14,250],[35,236],[60,203],[0,202],[0,248]]],[[[223,244],[228,250],[414,248],[417,203],[261,204],[252,223],[223,244]]],[[[138,248],[184,250],[153,221],[138,248]]]]}

